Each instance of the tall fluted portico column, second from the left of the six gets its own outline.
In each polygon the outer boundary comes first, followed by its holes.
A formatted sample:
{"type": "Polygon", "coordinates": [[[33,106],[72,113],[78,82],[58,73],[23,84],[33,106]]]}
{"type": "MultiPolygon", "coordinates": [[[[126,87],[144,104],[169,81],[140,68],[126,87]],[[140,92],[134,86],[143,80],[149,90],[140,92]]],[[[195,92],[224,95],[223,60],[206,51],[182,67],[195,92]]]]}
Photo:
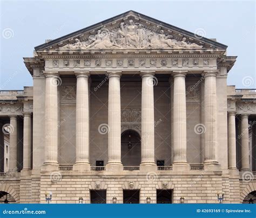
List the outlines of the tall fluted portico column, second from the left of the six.
{"type": "Polygon", "coordinates": [[[75,72],[76,94],[76,163],[73,170],[88,171],[89,163],[89,72],[75,72]]]}

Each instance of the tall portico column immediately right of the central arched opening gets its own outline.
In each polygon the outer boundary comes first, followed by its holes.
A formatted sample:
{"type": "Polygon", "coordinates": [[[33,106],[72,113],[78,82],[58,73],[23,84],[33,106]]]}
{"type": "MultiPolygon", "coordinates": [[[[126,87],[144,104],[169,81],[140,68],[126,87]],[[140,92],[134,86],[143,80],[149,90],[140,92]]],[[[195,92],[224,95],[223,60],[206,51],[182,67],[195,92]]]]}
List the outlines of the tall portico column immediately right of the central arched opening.
{"type": "Polygon", "coordinates": [[[142,161],[141,165],[156,165],[154,161],[154,72],[142,75],[142,161]]]}

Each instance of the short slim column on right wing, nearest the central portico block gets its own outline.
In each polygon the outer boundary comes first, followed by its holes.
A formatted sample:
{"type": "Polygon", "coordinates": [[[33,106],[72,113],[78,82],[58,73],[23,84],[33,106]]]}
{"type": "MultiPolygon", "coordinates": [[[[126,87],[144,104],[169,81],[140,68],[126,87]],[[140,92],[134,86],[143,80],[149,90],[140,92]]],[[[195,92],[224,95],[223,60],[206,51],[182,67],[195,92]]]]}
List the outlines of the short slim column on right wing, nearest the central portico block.
{"type": "Polygon", "coordinates": [[[228,168],[237,168],[235,112],[228,112],[228,168]]]}

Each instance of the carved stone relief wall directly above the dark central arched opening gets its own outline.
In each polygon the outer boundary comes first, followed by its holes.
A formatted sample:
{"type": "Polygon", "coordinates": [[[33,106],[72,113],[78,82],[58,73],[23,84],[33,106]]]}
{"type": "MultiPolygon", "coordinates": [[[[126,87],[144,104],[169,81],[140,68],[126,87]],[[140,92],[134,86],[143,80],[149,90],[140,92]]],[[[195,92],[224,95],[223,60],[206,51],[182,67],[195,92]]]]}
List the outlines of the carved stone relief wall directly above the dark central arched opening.
{"type": "Polygon", "coordinates": [[[121,131],[128,129],[141,132],[142,111],[140,108],[124,108],[121,111],[121,131]]]}

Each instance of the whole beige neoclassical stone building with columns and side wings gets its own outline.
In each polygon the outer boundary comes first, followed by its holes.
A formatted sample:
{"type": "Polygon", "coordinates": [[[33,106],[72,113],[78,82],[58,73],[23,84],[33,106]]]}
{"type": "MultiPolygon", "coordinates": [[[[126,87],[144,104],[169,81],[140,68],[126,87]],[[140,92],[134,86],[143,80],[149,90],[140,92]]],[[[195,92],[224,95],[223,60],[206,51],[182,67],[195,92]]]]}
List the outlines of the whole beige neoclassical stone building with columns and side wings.
{"type": "Polygon", "coordinates": [[[33,87],[0,92],[2,200],[254,200],[256,91],[226,48],[134,11],[35,47],[33,87]]]}

